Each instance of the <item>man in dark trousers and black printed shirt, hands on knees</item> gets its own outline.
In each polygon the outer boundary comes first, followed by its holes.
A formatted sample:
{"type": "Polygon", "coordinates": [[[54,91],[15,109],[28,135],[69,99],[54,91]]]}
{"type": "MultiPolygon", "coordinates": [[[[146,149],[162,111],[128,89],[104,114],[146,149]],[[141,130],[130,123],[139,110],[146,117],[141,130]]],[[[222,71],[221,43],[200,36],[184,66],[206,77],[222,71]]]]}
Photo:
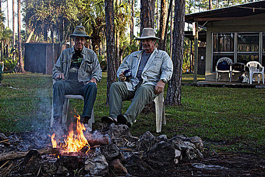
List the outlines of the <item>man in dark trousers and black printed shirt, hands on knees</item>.
{"type": "Polygon", "coordinates": [[[54,123],[62,123],[62,110],[65,95],[82,95],[84,109],[81,121],[88,123],[91,118],[92,108],[96,99],[97,82],[101,80],[101,68],[96,54],[84,47],[86,39],[85,28],[77,26],[70,35],[75,45],[62,52],[52,70],[54,84],[54,123]]]}

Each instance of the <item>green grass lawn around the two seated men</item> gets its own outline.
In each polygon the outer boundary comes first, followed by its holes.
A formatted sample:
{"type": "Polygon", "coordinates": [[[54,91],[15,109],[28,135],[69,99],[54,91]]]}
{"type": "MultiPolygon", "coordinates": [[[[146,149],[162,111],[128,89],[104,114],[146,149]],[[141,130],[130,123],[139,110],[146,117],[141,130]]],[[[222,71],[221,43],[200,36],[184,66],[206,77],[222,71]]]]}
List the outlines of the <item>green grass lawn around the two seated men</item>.
{"type": "MultiPolygon", "coordinates": [[[[100,129],[100,118],[108,115],[106,101],[107,73],[98,83],[97,100],[94,105],[95,124],[100,129]]],[[[202,75],[198,80],[203,80],[202,75]]],[[[192,74],[183,74],[183,82],[192,82],[192,74]]],[[[43,74],[5,74],[2,83],[9,87],[0,87],[0,132],[32,130],[41,126],[48,127],[52,102],[52,81],[50,75],[43,74]]],[[[166,95],[166,91],[165,91],[166,95]]],[[[167,124],[162,132],[155,131],[154,112],[141,113],[133,124],[131,133],[140,136],[145,131],[153,135],[185,134],[188,137],[198,136],[211,144],[215,151],[254,152],[265,155],[265,90],[235,89],[216,87],[182,86],[182,105],[166,107],[167,124]]],[[[125,102],[123,112],[130,102],[125,102]]],[[[81,100],[70,100],[68,117],[72,117],[76,109],[82,113],[81,100]]],[[[71,119],[69,119],[71,120],[71,119]]]]}

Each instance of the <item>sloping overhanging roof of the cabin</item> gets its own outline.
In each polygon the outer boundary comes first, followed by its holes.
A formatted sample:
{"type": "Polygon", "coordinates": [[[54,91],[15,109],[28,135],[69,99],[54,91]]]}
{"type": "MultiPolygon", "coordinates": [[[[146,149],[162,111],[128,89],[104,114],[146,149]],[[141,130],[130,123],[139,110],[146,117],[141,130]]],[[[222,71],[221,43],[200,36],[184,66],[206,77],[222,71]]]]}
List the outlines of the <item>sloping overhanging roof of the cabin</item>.
{"type": "Polygon", "coordinates": [[[198,21],[199,25],[203,25],[207,21],[255,19],[249,16],[263,13],[264,16],[258,17],[258,19],[265,20],[265,1],[256,1],[226,8],[187,14],[185,15],[185,22],[192,23],[198,21]]]}

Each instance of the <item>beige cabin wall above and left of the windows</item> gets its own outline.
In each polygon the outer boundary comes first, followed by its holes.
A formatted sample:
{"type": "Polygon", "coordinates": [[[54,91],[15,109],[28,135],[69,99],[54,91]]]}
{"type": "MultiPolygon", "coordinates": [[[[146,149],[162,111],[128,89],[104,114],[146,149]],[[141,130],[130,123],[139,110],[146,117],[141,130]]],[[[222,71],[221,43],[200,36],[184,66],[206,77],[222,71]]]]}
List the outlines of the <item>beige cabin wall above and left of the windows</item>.
{"type": "MultiPolygon", "coordinates": [[[[254,19],[256,17],[265,17],[264,14],[251,16],[253,19],[250,20],[226,20],[208,23],[206,32],[206,65],[205,65],[205,80],[215,81],[216,73],[211,72],[211,46],[212,32],[265,32],[265,20],[254,19]]],[[[237,75],[232,77],[233,80],[237,78],[237,75]]],[[[228,81],[228,73],[222,73],[222,81],[228,81]]]]}

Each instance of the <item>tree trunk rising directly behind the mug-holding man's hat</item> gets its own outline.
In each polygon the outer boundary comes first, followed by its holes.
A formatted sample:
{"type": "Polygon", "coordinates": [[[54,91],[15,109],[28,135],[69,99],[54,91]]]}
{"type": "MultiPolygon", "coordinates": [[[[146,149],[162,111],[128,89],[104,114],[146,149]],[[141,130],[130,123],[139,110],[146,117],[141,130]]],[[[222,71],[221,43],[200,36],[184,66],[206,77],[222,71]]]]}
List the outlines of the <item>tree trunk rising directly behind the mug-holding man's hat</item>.
{"type": "MultiPolygon", "coordinates": [[[[154,28],[154,3],[155,0],[141,0],[141,12],[140,12],[140,35],[143,28],[154,28]]],[[[142,45],[140,45],[140,50],[142,45]]]]}

